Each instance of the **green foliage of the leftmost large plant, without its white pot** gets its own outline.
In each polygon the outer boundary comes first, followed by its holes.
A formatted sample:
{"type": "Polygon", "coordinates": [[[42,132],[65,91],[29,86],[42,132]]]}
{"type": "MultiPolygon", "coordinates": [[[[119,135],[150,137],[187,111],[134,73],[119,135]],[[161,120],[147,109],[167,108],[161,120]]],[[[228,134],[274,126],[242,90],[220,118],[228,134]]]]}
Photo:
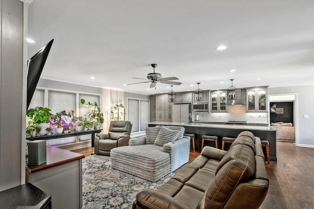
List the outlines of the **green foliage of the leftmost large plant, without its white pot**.
{"type": "Polygon", "coordinates": [[[51,109],[46,107],[30,108],[29,110],[26,111],[26,116],[29,119],[34,120],[36,124],[49,123],[50,118],[52,116],[50,111],[51,109]]]}

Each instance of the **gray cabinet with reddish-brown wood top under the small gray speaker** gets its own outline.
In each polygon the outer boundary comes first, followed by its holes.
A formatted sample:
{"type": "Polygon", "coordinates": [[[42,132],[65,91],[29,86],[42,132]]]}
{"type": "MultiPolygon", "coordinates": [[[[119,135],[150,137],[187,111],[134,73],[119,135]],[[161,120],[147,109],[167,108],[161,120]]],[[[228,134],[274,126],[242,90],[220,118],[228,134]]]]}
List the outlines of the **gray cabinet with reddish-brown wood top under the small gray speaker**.
{"type": "Polygon", "coordinates": [[[52,197],[54,209],[82,208],[82,159],[84,155],[47,146],[47,162],[26,166],[26,183],[52,197]]]}

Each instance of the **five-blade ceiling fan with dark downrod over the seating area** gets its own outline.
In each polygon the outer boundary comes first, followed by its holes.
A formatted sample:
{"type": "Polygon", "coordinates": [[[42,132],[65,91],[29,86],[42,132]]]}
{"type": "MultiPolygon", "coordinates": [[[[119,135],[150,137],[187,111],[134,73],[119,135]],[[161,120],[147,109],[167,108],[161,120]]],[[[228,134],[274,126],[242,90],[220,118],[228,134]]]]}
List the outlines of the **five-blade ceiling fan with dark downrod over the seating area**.
{"type": "MultiPolygon", "coordinates": [[[[149,82],[151,82],[150,88],[156,87],[156,84],[158,82],[164,83],[164,84],[170,84],[170,85],[181,85],[182,84],[180,82],[171,81],[171,80],[178,80],[179,79],[179,78],[176,78],[176,77],[162,78],[160,73],[155,72],[155,68],[157,67],[157,64],[152,64],[152,67],[154,68],[154,72],[148,73],[147,74],[147,79],[136,78],[136,79],[142,79],[142,80],[148,80],[148,81],[132,83],[132,84],[149,83],[149,82]]],[[[132,85],[132,84],[127,84],[127,85],[132,85]]]]}

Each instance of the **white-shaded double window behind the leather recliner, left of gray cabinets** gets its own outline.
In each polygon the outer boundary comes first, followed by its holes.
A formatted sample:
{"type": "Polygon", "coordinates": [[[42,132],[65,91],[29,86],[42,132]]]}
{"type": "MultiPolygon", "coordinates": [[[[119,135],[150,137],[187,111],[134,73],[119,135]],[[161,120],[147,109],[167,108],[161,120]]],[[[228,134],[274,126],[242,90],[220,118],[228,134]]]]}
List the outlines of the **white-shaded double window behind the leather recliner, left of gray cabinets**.
{"type": "Polygon", "coordinates": [[[149,101],[140,99],[128,99],[128,120],[132,123],[132,133],[145,131],[149,122],[149,101]]]}

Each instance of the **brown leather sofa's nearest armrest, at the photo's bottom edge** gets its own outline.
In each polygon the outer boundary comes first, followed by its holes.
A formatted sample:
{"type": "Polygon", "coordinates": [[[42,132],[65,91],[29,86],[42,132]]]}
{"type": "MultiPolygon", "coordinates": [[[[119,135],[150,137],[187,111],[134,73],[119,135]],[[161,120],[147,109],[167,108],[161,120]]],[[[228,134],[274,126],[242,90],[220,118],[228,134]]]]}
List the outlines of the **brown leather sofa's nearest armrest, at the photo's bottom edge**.
{"type": "MultiPolygon", "coordinates": [[[[191,209],[179,200],[158,190],[145,189],[136,195],[136,208],[140,209],[191,209]]],[[[134,207],[133,204],[133,208],[134,207]]]]}

